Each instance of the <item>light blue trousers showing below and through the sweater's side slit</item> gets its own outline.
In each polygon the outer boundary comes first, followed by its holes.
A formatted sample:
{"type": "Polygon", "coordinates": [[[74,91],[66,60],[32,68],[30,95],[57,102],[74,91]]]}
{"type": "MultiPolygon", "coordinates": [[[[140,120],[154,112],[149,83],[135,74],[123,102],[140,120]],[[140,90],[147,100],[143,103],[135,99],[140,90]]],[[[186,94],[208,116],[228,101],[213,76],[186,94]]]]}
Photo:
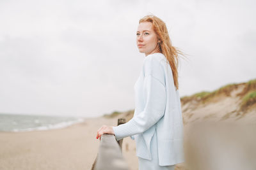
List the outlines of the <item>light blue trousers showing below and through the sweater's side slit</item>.
{"type": "Polygon", "coordinates": [[[151,139],[150,143],[150,153],[152,155],[152,160],[143,159],[138,157],[139,159],[139,170],[174,170],[175,165],[173,166],[159,166],[158,162],[158,153],[157,153],[157,139],[156,139],[156,131],[151,139]]]}

